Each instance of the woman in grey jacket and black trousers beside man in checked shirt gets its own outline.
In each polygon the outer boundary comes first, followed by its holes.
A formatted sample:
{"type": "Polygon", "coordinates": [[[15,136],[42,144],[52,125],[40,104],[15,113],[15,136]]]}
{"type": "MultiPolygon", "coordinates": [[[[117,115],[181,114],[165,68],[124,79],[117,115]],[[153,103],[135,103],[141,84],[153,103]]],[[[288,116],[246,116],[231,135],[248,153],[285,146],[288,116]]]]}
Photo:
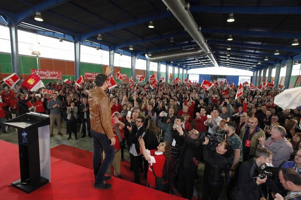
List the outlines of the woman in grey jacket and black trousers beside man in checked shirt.
{"type": "Polygon", "coordinates": [[[72,131],[75,135],[75,139],[77,140],[77,128],[76,128],[76,122],[77,122],[77,112],[78,109],[75,106],[74,101],[70,101],[70,107],[67,107],[67,123],[68,123],[68,133],[69,133],[69,137],[67,139],[71,139],[71,134],[72,131]]]}

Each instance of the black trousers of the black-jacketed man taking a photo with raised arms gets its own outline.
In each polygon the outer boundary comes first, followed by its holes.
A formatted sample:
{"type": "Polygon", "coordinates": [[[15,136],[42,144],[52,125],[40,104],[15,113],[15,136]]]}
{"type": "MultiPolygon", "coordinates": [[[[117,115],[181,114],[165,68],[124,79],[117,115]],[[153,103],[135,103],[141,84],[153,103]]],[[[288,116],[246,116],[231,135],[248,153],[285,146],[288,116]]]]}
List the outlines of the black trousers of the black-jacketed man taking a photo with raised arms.
{"type": "Polygon", "coordinates": [[[193,196],[193,187],[194,180],[196,178],[196,170],[197,169],[183,169],[179,166],[178,169],[178,192],[181,194],[184,199],[192,199],[193,196]]]}

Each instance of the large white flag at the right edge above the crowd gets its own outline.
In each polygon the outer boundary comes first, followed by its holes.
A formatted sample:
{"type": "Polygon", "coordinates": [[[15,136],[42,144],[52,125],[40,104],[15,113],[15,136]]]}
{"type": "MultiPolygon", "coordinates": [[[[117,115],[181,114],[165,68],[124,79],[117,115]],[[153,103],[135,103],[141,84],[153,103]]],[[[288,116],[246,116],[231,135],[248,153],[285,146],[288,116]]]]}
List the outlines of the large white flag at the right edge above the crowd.
{"type": "Polygon", "coordinates": [[[275,96],[274,103],[282,109],[294,109],[301,105],[301,87],[286,89],[275,96]]]}

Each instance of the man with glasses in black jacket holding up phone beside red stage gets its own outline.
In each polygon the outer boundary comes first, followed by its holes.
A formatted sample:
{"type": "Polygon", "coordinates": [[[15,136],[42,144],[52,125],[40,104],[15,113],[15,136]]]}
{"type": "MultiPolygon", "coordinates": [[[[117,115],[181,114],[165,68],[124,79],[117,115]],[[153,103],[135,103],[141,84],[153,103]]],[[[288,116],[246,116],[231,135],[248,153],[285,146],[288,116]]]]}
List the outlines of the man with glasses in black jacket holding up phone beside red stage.
{"type": "Polygon", "coordinates": [[[130,147],[130,153],[132,154],[133,159],[133,172],[135,175],[135,180],[133,181],[136,184],[141,184],[140,181],[140,167],[142,166],[142,154],[140,152],[139,138],[143,138],[146,130],[144,127],[145,118],[138,116],[136,120],[136,127],[126,126],[129,130],[129,139],[132,144],[130,147]]]}

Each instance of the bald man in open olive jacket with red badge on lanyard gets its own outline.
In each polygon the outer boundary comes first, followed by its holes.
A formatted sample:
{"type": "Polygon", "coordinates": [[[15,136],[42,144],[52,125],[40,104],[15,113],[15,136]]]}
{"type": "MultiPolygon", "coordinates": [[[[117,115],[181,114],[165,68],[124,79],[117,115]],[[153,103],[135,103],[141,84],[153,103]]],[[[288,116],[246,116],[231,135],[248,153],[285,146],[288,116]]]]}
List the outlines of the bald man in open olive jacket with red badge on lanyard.
{"type": "Polygon", "coordinates": [[[258,119],[251,117],[246,126],[240,129],[240,139],[243,144],[243,160],[248,161],[255,157],[259,138],[265,137],[265,132],[259,128],[258,119]]]}

